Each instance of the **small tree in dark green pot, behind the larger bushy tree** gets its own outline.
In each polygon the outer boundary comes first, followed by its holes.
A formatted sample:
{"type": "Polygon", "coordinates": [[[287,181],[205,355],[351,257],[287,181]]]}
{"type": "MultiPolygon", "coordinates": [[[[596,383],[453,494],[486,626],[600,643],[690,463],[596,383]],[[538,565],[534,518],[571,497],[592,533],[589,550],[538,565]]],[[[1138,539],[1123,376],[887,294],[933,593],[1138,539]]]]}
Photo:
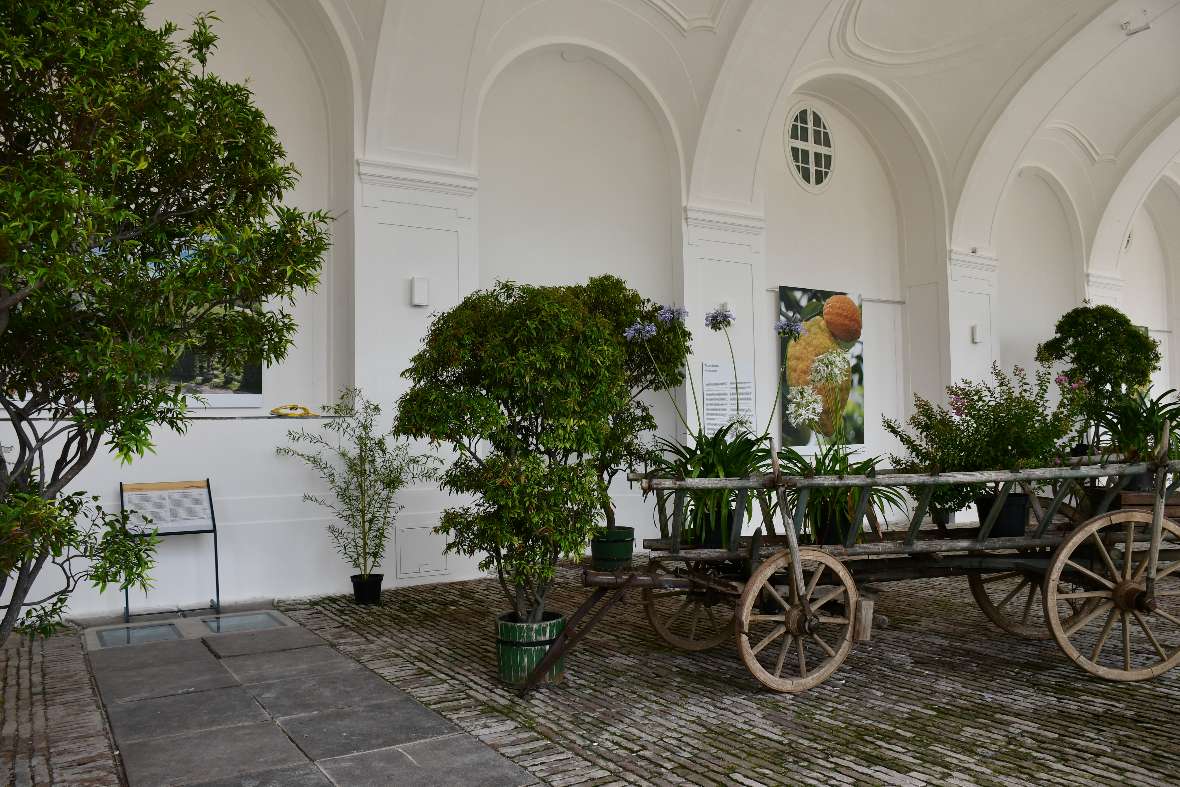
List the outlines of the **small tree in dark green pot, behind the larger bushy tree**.
{"type": "Polygon", "coordinates": [[[656,428],[656,419],[644,395],[670,392],[684,382],[691,334],[684,326],[683,309],[645,299],[617,276],[597,276],[573,291],[590,311],[610,326],[621,352],[621,374],[630,392],[625,405],[610,414],[602,448],[594,454],[598,479],[607,493],[603,497],[607,529],[590,539],[591,568],[615,571],[631,562],[635,527],[616,522],[610,485],[620,472],[649,464],[657,455],[644,439],[656,428]],[[636,330],[644,333],[644,341],[634,341],[636,330]]]}

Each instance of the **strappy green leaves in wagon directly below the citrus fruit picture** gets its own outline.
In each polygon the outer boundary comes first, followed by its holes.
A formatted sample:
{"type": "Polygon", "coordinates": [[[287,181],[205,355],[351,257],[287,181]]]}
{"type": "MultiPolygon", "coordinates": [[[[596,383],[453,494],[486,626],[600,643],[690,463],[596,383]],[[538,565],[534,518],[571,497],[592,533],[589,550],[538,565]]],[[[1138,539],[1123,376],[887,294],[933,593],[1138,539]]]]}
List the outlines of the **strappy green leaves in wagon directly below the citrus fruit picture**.
{"type": "MultiPolygon", "coordinates": [[[[881,457],[858,458],[858,452],[841,440],[821,442],[813,454],[801,454],[791,446],[779,450],[779,467],[786,476],[872,476],[881,457]]],[[[786,500],[792,510],[799,503],[799,490],[787,488],[786,500]]],[[[905,497],[892,487],[815,487],[807,493],[804,523],[814,544],[843,544],[853,526],[860,497],[868,496],[868,505],[877,511],[902,510],[905,497]]]]}

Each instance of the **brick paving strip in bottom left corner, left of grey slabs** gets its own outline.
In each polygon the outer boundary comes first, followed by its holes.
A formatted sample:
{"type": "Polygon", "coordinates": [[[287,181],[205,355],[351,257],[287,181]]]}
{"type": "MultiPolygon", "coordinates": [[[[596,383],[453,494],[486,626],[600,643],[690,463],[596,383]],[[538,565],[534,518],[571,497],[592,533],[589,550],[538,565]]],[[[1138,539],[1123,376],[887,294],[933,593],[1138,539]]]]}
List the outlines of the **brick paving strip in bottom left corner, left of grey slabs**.
{"type": "Polygon", "coordinates": [[[0,697],[0,783],[120,783],[79,636],[11,637],[0,697]]]}

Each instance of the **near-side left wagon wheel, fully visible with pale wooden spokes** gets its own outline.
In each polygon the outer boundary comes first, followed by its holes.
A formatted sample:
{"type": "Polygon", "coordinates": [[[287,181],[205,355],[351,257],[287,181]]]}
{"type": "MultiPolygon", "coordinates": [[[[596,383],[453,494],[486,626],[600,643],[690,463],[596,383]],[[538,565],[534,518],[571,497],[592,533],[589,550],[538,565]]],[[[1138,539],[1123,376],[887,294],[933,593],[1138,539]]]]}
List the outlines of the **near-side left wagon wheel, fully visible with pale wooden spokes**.
{"type": "Polygon", "coordinates": [[[738,603],[738,651],[750,675],[774,691],[804,691],[822,683],[852,649],[858,602],[852,575],[820,550],[800,550],[799,559],[811,617],[799,598],[788,551],[758,568],[738,603]]]}

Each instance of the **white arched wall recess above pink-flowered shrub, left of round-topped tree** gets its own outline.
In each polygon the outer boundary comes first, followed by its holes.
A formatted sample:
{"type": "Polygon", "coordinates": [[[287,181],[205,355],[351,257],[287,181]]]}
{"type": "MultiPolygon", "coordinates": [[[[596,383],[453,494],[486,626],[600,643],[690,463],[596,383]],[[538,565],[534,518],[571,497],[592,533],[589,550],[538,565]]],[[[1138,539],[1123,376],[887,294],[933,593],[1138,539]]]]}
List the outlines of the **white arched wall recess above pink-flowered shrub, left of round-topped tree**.
{"type": "Polygon", "coordinates": [[[1081,302],[1081,255],[1066,210],[1043,178],[1023,172],[1009,186],[996,231],[999,257],[995,346],[999,365],[1036,368],[1036,346],[1081,302]]]}

